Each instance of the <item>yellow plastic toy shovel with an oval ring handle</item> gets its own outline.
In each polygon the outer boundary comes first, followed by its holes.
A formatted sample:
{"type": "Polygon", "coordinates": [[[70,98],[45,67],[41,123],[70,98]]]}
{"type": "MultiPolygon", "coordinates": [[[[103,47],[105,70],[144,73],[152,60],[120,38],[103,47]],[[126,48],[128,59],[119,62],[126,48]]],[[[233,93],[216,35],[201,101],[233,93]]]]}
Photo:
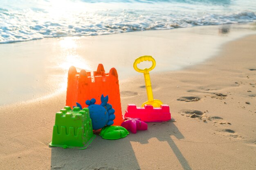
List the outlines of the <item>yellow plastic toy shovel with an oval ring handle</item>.
{"type": "Polygon", "coordinates": [[[133,68],[137,71],[137,72],[141,72],[144,74],[144,78],[145,78],[145,84],[146,84],[146,90],[147,90],[147,94],[148,94],[148,101],[144,102],[141,107],[143,107],[144,105],[152,105],[153,107],[160,107],[160,105],[162,105],[163,103],[161,102],[161,100],[157,100],[153,98],[153,92],[152,92],[152,87],[151,87],[151,82],[150,82],[150,76],[149,76],[149,72],[151,70],[153,70],[155,68],[156,62],[155,59],[152,56],[141,56],[137,59],[135,59],[134,63],[133,63],[133,68]],[[152,61],[152,66],[150,68],[145,68],[144,70],[139,69],[137,67],[137,64],[141,63],[142,61],[152,61]]]}

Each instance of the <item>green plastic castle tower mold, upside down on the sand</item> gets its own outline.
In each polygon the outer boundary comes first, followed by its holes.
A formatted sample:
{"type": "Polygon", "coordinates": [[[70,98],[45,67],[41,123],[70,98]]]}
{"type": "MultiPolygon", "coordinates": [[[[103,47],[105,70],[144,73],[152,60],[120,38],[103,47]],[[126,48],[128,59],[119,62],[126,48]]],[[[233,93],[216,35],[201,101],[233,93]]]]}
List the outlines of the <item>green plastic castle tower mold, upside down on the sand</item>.
{"type": "Polygon", "coordinates": [[[69,106],[56,113],[50,146],[85,149],[95,138],[89,109],[69,106]]]}

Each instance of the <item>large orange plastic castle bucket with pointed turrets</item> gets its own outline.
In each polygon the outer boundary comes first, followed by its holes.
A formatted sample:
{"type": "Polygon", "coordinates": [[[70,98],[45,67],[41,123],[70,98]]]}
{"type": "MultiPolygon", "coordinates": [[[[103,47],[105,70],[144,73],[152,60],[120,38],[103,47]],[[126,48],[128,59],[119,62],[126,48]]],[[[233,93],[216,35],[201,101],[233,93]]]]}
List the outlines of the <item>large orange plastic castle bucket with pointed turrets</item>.
{"type": "Polygon", "coordinates": [[[97,71],[94,71],[91,76],[91,72],[85,70],[77,72],[74,66],[70,67],[67,76],[67,106],[76,106],[76,102],[78,102],[82,107],[88,107],[85,104],[86,100],[95,98],[99,102],[102,94],[108,95],[108,102],[115,109],[116,118],[113,125],[120,126],[124,119],[117,70],[111,68],[109,73],[106,73],[103,65],[99,64],[97,71]]]}

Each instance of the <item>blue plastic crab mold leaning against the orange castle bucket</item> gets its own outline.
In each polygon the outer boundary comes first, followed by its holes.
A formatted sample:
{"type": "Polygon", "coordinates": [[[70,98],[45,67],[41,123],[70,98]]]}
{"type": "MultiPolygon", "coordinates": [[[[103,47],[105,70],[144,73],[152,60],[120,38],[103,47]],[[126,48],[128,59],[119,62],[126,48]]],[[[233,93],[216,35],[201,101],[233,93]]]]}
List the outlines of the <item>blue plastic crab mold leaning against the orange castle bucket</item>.
{"type": "Polygon", "coordinates": [[[101,129],[104,126],[114,124],[115,109],[112,105],[108,104],[108,96],[101,95],[101,105],[95,104],[96,100],[86,100],[85,104],[89,105],[90,118],[92,119],[92,129],[101,129]]]}

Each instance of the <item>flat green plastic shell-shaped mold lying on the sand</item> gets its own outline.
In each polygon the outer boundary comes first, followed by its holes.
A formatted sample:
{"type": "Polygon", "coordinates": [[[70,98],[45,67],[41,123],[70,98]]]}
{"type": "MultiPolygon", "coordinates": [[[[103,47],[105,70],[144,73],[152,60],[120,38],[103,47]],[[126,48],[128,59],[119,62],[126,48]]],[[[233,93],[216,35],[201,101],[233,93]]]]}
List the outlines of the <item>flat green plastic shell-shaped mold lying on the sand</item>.
{"type": "Polygon", "coordinates": [[[122,126],[105,126],[99,134],[103,139],[120,139],[126,137],[129,132],[122,126]]]}

